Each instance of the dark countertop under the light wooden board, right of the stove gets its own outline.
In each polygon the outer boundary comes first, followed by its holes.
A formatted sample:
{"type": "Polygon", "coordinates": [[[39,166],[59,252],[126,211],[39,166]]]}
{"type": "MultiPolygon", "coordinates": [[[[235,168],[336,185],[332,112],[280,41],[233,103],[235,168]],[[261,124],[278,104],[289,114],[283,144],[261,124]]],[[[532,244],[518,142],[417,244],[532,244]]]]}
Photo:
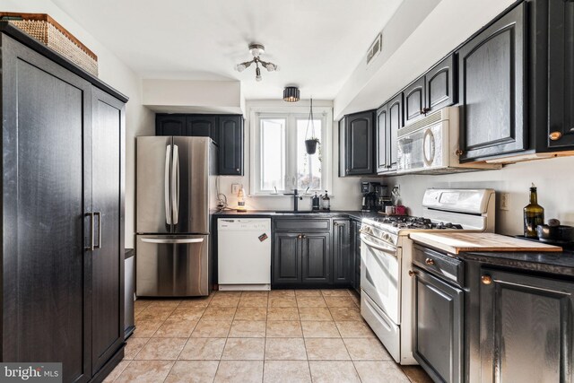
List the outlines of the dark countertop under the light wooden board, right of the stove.
{"type": "Polygon", "coordinates": [[[462,259],[502,265],[541,273],[574,276],[574,252],[472,252],[460,253],[462,259]]]}

